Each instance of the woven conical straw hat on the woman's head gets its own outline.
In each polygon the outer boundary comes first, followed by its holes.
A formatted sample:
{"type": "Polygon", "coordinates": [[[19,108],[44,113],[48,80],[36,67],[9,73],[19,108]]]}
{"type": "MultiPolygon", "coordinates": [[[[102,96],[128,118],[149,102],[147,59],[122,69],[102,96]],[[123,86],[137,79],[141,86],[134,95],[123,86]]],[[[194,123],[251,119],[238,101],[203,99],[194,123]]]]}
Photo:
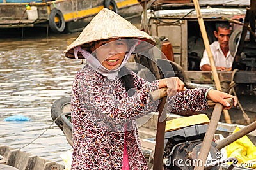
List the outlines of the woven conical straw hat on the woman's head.
{"type": "MultiPolygon", "coordinates": [[[[68,58],[74,57],[74,48],[76,46],[83,46],[86,50],[93,41],[109,38],[132,38],[140,39],[141,42],[136,46],[135,52],[141,52],[147,50],[156,45],[156,41],[149,36],[146,32],[140,31],[129,21],[116,14],[114,11],[103,8],[84,28],[79,37],[71,43],[67,50],[65,50],[65,56],[68,58]]],[[[81,53],[78,53],[79,59],[84,59],[81,53]]]]}

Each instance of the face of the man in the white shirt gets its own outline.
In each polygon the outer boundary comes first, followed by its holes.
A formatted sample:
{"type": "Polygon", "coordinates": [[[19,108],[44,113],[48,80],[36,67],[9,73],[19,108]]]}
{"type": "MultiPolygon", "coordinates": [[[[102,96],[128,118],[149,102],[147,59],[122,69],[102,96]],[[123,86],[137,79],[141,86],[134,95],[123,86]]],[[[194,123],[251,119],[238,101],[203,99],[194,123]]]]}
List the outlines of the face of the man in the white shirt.
{"type": "Polygon", "coordinates": [[[215,37],[218,39],[220,43],[220,47],[222,50],[228,50],[228,41],[230,38],[230,29],[218,28],[218,32],[214,31],[215,37]]]}

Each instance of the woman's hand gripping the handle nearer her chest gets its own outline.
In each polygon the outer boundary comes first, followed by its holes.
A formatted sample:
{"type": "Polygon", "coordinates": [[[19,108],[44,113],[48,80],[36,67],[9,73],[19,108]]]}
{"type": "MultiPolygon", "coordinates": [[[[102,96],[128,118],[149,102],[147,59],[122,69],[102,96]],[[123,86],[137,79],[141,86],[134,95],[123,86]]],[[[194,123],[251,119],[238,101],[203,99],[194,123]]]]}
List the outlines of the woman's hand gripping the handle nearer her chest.
{"type": "Polygon", "coordinates": [[[177,77],[159,80],[159,88],[167,87],[167,96],[173,96],[177,92],[186,90],[184,86],[185,84],[177,77]]]}

